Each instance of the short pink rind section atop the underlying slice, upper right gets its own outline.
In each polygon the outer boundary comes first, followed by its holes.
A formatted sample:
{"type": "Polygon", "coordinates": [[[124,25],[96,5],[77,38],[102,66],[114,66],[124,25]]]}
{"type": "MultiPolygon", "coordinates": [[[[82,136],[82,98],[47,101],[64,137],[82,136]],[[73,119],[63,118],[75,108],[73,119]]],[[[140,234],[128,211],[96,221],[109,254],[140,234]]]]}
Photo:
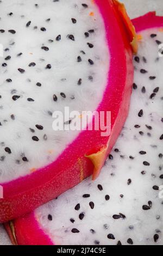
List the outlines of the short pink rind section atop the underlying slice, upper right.
{"type": "Polygon", "coordinates": [[[151,11],[141,17],[132,20],[136,32],[141,32],[149,28],[163,27],[163,17],[156,16],[155,11],[151,11]]]}

